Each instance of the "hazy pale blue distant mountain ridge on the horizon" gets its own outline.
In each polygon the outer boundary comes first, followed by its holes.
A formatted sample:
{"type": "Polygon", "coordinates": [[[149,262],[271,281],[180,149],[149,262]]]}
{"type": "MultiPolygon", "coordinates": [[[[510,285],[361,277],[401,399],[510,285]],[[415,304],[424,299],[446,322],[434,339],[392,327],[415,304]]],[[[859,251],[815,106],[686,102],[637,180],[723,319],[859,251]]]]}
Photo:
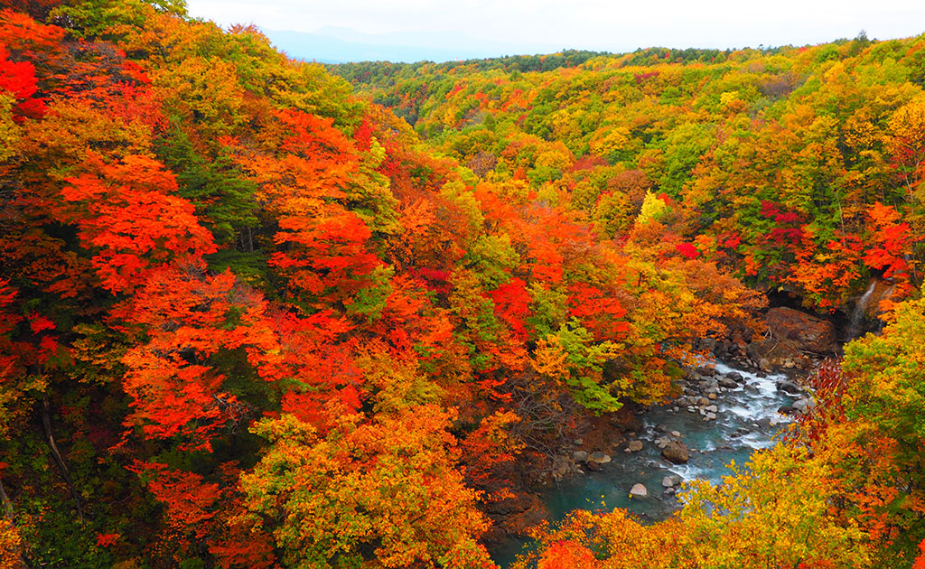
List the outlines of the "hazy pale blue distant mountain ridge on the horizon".
{"type": "Polygon", "coordinates": [[[277,48],[306,61],[337,64],[358,61],[444,62],[524,53],[553,53],[561,46],[486,41],[458,31],[364,33],[324,26],[316,31],[263,30],[277,48]]]}

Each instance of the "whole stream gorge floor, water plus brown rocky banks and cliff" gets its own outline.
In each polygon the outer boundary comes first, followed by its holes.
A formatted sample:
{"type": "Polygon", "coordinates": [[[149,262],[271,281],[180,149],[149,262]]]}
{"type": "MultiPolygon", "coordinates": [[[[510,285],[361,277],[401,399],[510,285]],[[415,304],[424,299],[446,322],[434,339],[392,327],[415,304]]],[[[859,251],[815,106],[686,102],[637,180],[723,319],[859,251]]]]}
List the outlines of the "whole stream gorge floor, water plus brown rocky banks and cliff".
{"type": "Polygon", "coordinates": [[[745,464],[811,407],[805,378],[821,359],[841,353],[843,342],[879,328],[877,306],[891,292],[889,283],[874,279],[845,317],[778,305],[766,312],[760,334],[739,330],[724,340],[699,340],[697,350],[711,353],[714,364],[688,370],[675,385],[680,397],[649,408],[627,403],[618,414],[592,420],[552,458],[540,484],[526,485],[527,496],[492,516],[505,519],[514,510],[517,519],[513,531],[508,526],[505,538],[494,540],[496,562],[507,566],[526,543],[520,530],[543,519],[624,508],[654,523],[681,507],[676,496],[685,480],[719,483],[730,474],[727,464],[745,464]]]}

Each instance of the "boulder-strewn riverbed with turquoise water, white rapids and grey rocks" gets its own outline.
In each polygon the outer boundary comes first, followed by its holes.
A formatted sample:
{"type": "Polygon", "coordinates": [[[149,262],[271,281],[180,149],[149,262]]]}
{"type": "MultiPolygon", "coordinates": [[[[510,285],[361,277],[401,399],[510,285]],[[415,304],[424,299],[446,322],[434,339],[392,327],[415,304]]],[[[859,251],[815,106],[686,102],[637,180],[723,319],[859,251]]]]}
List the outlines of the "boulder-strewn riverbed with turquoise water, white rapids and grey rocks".
{"type": "MultiPolygon", "coordinates": [[[[549,520],[576,508],[626,508],[645,520],[678,510],[686,480],[714,483],[727,464],[745,464],[756,449],[774,444],[812,399],[791,377],[746,371],[722,363],[692,370],[672,402],[640,412],[632,428],[611,439],[576,439],[553,466],[540,492],[549,520]],[[598,448],[599,447],[599,448],[598,448]]],[[[496,551],[502,566],[523,546],[512,540],[496,551]]]]}

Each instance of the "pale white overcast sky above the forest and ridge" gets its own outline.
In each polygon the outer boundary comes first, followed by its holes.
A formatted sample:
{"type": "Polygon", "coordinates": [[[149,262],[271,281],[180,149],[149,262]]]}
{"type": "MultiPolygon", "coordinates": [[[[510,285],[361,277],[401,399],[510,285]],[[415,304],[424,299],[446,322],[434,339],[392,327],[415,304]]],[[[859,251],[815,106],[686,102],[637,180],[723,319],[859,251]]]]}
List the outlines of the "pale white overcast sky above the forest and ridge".
{"type": "Polygon", "coordinates": [[[925,0],[188,0],[191,16],[269,30],[446,31],[487,42],[613,52],[890,39],[925,32],[925,0]]]}

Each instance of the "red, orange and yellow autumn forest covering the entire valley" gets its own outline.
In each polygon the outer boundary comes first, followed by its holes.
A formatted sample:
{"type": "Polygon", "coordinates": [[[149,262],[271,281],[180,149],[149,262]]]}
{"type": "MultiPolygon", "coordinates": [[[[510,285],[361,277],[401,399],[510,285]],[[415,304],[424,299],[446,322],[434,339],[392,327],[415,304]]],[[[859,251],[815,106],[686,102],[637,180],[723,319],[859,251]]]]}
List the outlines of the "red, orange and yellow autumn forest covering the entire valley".
{"type": "Polygon", "coordinates": [[[0,6],[0,568],[925,568],[925,35],[325,67],[0,6]],[[541,523],[716,360],[808,394],[775,444],[541,523]]]}

